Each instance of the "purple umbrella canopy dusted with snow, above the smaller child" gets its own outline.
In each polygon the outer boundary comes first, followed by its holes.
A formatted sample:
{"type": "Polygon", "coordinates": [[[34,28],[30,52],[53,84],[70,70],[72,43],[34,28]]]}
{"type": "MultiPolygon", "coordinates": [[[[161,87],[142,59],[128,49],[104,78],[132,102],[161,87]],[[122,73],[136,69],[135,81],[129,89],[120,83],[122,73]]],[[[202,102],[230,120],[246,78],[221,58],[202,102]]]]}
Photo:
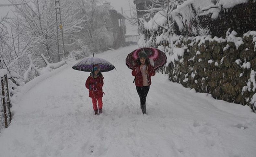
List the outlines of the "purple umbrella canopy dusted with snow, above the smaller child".
{"type": "Polygon", "coordinates": [[[82,61],[76,63],[72,68],[79,71],[92,72],[95,65],[99,66],[100,72],[108,72],[115,69],[113,64],[98,57],[84,58],[82,61]]]}

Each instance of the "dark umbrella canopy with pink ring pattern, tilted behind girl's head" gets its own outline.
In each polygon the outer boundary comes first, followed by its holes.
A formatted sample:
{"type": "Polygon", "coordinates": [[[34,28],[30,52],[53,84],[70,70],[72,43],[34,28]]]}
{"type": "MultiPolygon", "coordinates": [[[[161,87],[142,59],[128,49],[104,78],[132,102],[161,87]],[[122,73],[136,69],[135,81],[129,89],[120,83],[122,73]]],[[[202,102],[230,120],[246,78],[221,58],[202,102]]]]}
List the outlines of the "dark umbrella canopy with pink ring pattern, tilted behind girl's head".
{"type": "Polygon", "coordinates": [[[134,50],[126,57],[126,65],[128,68],[133,69],[139,60],[139,53],[145,52],[148,56],[150,64],[155,70],[162,67],[167,62],[167,57],[164,52],[152,47],[144,47],[134,50]]]}

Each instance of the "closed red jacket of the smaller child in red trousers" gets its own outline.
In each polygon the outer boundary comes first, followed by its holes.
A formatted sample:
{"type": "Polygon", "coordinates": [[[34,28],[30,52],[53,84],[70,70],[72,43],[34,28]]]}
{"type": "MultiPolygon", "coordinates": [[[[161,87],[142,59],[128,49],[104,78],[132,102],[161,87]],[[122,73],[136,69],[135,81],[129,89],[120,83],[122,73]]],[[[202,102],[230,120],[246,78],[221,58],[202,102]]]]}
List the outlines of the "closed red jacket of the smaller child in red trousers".
{"type": "Polygon", "coordinates": [[[97,78],[92,77],[92,73],[87,78],[85,86],[89,89],[89,97],[99,98],[103,96],[102,86],[104,77],[100,73],[97,78]]]}

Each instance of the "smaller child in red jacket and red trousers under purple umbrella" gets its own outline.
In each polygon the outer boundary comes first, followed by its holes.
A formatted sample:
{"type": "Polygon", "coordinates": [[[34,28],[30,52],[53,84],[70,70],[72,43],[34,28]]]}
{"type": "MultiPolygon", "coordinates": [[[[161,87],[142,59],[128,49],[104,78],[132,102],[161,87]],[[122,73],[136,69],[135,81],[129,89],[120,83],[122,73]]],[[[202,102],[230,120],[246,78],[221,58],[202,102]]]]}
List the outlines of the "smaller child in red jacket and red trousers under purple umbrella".
{"type": "Polygon", "coordinates": [[[100,73],[100,68],[98,65],[95,65],[92,73],[87,78],[85,86],[89,90],[89,97],[92,98],[93,110],[95,115],[102,113],[102,97],[103,97],[103,75],[100,73]],[[97,106],[98,101],[98,106],[97,106]],[[99,111],[99,112],[98,112],[99,111]]]}

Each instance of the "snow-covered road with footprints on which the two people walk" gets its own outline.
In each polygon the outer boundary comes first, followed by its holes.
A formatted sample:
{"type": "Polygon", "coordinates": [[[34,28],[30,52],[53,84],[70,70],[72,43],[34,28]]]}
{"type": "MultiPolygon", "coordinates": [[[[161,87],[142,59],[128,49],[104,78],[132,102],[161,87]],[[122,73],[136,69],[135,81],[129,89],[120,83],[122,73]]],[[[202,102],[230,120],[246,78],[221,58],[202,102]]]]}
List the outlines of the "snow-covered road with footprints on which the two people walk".
{"type": "Polygon", "coordinates": [[[249,107],[152,77],[142,115],[125,58],[136,46],[96,55],[103,73],[103,114],[93,115],[89,73],[64,66],[29,82],[0,134],[1,157],[255,157],[256,114],[249,107]],[[30,89],[30,90],[29,90],[30,89]]]}

